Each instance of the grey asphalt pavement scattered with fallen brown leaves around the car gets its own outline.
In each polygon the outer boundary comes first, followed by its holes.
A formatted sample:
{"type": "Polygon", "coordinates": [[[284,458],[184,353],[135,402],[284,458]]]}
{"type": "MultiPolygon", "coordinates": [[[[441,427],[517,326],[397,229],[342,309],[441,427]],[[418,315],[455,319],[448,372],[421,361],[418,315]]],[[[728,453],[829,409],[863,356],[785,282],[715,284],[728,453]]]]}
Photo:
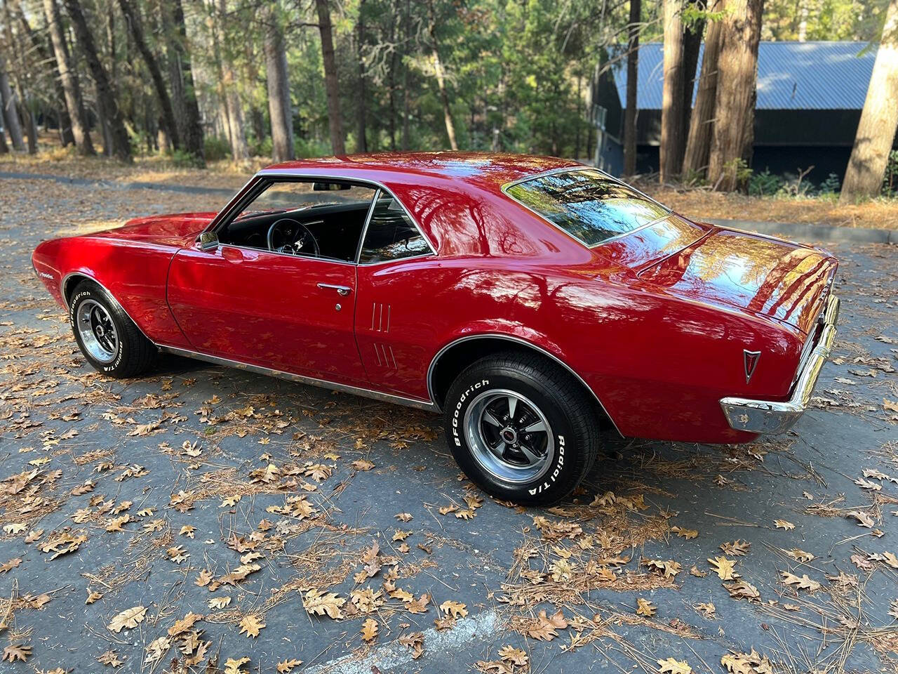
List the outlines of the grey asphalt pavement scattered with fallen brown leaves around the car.
{"type": "Polygon", "coordinates": [[[174,357],[101,377],[31,250],[226,198],[3,186],[0,671],[898,670],[894,245],[827,244],[841,324],[793,431],[609,433],[523,509],[435,415],[174,357]]]}

